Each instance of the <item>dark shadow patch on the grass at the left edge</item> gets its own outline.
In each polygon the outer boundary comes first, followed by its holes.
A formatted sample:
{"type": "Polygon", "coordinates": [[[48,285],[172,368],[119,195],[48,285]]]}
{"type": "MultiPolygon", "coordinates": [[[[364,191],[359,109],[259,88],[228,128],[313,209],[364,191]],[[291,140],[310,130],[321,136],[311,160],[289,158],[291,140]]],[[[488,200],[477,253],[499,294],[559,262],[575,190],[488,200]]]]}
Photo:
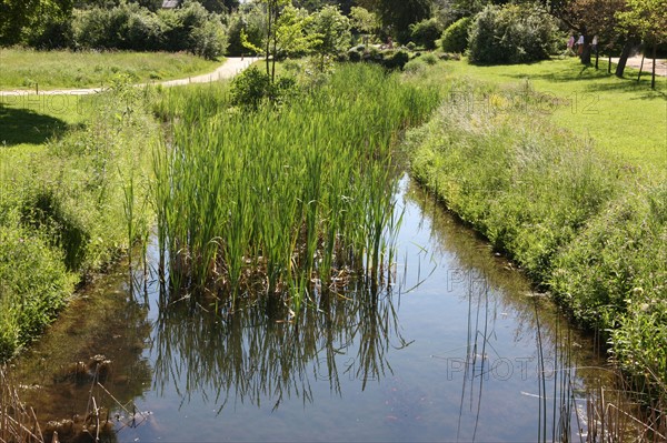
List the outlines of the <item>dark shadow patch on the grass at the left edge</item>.
{"type": "Polygon", "coordinates": [[[41,144],[58,138],[68,127],[67,122],[51,115],[0,104],[0,145],[41,144]]]}

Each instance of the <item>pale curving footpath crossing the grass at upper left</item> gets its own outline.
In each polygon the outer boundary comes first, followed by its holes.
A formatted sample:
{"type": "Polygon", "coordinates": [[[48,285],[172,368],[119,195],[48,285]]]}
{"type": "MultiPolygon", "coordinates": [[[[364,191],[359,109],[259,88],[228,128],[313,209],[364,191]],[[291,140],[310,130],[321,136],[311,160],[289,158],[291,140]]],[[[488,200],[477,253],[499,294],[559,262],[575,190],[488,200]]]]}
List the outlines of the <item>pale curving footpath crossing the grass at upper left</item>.
{"type": "MultiPolygon", "coordinates": [[[[255,61],[259,60],[257,57],[230,57],[225,60],[218,69],[213,72],[188,77],[186,79],[177,79],[177,80],[167,80],[160,82],[151,82],[151,83],[139,83],[137,87],[146,87],[148,84],[160,84],[162,87],[177,87],[182,84],[190,83],[210,83],[218,80],[231,79],[237,75],[255,61]]],[[[10,90],[10,91],[0,91],[0,97],[18,97],[18,95],[88,95],[101,92],[103,88],[84,88],[84,89],[57,89],[57,90],[47,90],[47,91],[36,91],[36,90],[10,90]]]]}

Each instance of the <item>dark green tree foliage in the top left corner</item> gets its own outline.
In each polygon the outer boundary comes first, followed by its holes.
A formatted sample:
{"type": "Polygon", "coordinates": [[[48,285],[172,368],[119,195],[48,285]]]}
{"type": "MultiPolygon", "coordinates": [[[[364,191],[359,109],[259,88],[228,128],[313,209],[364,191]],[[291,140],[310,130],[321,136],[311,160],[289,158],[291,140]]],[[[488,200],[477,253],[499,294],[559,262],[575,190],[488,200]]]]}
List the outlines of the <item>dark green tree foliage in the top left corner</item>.
{"type": "Polygon", "coordinates": [[[71,18],[72,0],[0,0],[0,46],[20,43],[24,31],[39,28],[44,19],[71,18]]]}

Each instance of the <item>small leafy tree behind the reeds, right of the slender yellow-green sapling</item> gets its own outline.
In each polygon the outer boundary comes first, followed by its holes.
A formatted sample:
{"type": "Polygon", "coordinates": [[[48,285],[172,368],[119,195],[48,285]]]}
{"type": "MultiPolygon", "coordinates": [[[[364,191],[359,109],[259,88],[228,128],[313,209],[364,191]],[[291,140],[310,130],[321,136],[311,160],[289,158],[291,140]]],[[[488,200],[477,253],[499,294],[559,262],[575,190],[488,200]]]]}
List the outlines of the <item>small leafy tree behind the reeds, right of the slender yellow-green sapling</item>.
{"type": "Polygon", "coordinates": [[[325,7],[312,14],[310,32],[315,40],[312,49],[319,56],[320,71],[328,56],[345,51],[350,44],[350,21],[338,7],[325,7]]]}

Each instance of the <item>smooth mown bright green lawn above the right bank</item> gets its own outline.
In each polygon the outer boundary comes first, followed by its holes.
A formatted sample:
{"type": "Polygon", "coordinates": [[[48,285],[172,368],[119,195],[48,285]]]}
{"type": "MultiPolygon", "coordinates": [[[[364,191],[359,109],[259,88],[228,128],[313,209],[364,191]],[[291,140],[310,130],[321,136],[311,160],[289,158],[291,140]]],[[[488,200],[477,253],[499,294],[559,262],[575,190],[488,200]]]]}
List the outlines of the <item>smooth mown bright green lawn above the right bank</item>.
{"type": "Polygon", "coordinates": [[[548,60],[531,64],[477,67],[467,61],[449,62],[455,75],[489,81],[516,90],[529,84],[546,94],[544,109],[552,111],[554,122],[595,140],[608,154],[636,165],[667,170],[667,78],[657,78],[650,89],[650,74],[636,81],[637,71],[626,78],[600,69],[583,67],[577,59],[548,60]],[[554,104],[556,102],[557,104],[554,104]]]}

